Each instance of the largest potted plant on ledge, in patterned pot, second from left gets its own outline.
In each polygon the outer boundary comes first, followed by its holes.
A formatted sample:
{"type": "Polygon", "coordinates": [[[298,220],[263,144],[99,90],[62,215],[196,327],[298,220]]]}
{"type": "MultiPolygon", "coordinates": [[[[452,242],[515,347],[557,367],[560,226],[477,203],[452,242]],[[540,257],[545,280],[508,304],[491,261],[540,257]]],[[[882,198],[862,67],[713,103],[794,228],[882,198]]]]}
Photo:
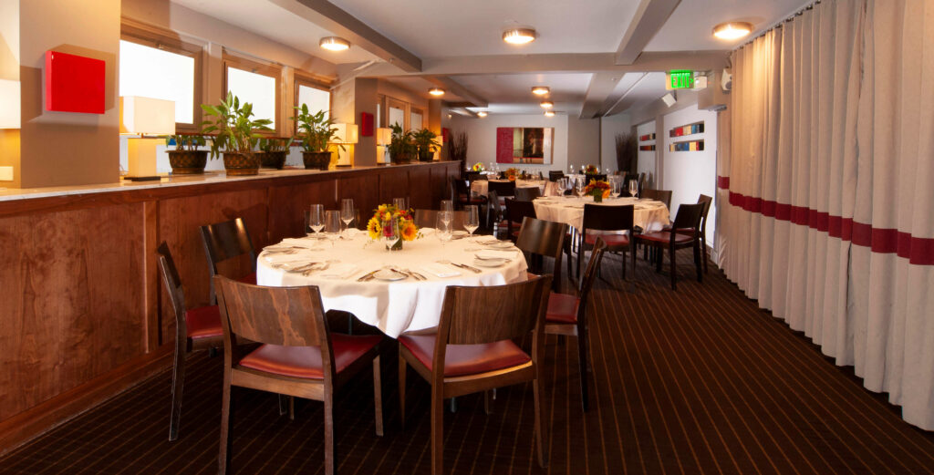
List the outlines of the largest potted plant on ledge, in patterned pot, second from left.
{"type": "Polygon", "coordinates": [[[253,105],[244,103],[228,92],[227,98],[219,105],[201,105],[205,114],[213,120],[205,120],[202,125],[205,133],[217,133],[211,141],[211,158],[220,153],[224,155],[224,168],[227,175],[256,175],[260,173],[260,159],[253,146],[261,137],[254,131],[271,131],[270,119],[251,119],[253,105]]]}

